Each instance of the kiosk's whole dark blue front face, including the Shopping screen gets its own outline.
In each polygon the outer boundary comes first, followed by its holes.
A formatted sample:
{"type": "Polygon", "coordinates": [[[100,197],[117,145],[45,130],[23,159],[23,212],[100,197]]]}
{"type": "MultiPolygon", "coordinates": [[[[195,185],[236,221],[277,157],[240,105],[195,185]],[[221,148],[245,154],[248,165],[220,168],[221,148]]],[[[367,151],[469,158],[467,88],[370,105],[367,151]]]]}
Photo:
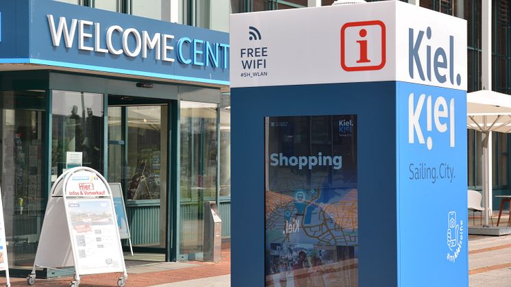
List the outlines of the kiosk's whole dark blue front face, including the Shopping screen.
{"type": "Polygon", "coordinates": [[[284,269],[286,286],[398,286],[395,92],[396,82],[232,89],[232,187],[243,190],[232,194],[233,286],[284,286],[284,269]],[[321,217],[333,210],[336,226],[321,217]],[[314,223],[331,233],[314,236],[314,223]]]}

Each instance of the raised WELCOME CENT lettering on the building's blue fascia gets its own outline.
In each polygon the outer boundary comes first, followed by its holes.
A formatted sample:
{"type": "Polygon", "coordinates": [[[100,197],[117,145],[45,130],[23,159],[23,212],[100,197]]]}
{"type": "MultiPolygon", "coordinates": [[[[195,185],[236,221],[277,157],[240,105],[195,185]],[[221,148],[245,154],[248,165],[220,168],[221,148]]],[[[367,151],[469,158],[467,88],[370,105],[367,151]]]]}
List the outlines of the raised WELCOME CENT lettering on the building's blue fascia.
{"type": "Polygon", "coordinates": [[[119,25],[111,25],[106,29],[105,34],[101,35],[101,23],[71,19],[71,24],[68,25],[66,17],[62,16],[58,18],[58,24],[55,24],[53,15],[49,14],[47,18],[54,47],[60,47],[64,38],[66,48],[72,48],[75,35],[78,34],[78,49],[83,51],[112,55],[124,54],[130,58],[138,57],[140,52],[142,58],[147,58],[149,51],[154,51],[155,60],[175,62],[175,56],[177,56],[177,60],[182,64],[229,68],[228,44],[187,37],[175,41],[175,36],[171,34],[149,34],[147,31],[140,32],[133,27],[124,29],[119,25]]]}

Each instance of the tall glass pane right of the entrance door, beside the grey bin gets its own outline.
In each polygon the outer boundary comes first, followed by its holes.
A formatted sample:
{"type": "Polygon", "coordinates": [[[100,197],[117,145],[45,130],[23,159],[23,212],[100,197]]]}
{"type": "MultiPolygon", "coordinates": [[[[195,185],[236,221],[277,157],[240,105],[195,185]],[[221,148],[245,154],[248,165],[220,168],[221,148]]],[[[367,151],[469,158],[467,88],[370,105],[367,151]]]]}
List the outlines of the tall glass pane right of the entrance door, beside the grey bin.
{"type": "Polygon", "coordinates": [[[203,251],[203,205],[216,199],[217,112],[181,101],[181,254],[203,251]]]}

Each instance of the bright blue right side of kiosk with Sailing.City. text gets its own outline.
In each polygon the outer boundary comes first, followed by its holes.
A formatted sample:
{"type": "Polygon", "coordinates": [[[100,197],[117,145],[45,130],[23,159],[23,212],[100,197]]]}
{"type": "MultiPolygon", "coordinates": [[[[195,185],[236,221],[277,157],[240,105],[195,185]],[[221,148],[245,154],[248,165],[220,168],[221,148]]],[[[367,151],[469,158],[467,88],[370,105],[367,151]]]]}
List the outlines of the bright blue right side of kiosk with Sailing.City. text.
{"type": "Polygon", "coordinates": [[[466,92],[398,82],[397,110],[398,286],[469,286],[466,92]]]}

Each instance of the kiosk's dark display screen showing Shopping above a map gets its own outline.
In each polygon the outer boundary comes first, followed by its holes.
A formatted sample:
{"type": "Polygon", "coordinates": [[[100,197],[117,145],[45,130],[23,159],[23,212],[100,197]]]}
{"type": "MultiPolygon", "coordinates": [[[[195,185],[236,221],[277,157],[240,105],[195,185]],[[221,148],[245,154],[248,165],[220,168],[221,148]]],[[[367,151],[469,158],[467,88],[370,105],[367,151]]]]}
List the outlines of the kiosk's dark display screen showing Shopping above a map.
{"type": "Polygon", "coordinates": [[[266,118],[266,286],[358,286],[356,118],[266,118]]]}

